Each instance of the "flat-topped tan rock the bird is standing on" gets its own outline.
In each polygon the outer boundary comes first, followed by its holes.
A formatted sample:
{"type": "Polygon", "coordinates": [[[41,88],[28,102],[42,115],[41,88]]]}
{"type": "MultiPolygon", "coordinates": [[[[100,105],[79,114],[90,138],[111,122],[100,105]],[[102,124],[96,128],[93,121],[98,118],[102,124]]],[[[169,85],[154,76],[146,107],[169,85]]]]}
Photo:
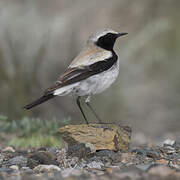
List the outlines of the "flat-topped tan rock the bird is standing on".
{"type": "Polygon", "coordinates": [[[131,140],[131,128],[115,124],[67,125],[59,131],[68,146],[85,144],[92,152],[102,149],[126,151],[131,140]]]}

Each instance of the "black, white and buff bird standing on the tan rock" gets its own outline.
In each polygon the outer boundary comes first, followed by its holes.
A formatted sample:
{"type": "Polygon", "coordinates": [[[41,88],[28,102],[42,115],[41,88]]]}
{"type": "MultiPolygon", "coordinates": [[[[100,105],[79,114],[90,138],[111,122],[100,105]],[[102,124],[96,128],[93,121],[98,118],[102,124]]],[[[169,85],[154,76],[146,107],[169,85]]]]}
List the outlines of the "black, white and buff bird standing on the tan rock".
{"type": "Polygon", "coordinates": [[[117,38],[127,34],[112,29],[93,33],[57,81],[47,88],[39,99],[24,106],[24,109],[31,109],[57,96],[72,95],[76,97],[82,116],[89,124],[80,101],[81,97],[85,97],[85,103],[99,123],[102,123],[90,104],[91,96],[103,92],[117,79],[119,58],[113,48],[117,38]]]}

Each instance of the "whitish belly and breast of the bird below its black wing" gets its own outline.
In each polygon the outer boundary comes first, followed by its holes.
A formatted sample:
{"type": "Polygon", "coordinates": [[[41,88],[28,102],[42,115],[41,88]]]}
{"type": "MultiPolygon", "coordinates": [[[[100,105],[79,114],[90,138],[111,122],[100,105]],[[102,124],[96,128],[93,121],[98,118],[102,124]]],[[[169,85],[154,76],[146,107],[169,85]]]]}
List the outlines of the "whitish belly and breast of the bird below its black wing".
{"type": "Polygon", "coordinates": [[[76,96],[87,96],[98,94],[111,86],[119,74],[119,61],[116,62],[108,71],[89,77],[79,82],[72,90],[76,96]]]}

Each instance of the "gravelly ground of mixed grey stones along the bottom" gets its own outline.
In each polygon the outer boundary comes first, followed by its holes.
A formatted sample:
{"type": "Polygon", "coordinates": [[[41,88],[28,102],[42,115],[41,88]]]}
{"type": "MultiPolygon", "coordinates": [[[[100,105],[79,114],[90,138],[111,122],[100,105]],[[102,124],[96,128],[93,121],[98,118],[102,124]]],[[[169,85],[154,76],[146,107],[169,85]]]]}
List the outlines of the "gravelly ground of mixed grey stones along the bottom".
{"type": "Polygon", "coordinates": [[[133,147],[128,152],[91,152],[83,144],[66,150],[0,150],[0,179],[180,179],[180,142],[133,147]]]}

